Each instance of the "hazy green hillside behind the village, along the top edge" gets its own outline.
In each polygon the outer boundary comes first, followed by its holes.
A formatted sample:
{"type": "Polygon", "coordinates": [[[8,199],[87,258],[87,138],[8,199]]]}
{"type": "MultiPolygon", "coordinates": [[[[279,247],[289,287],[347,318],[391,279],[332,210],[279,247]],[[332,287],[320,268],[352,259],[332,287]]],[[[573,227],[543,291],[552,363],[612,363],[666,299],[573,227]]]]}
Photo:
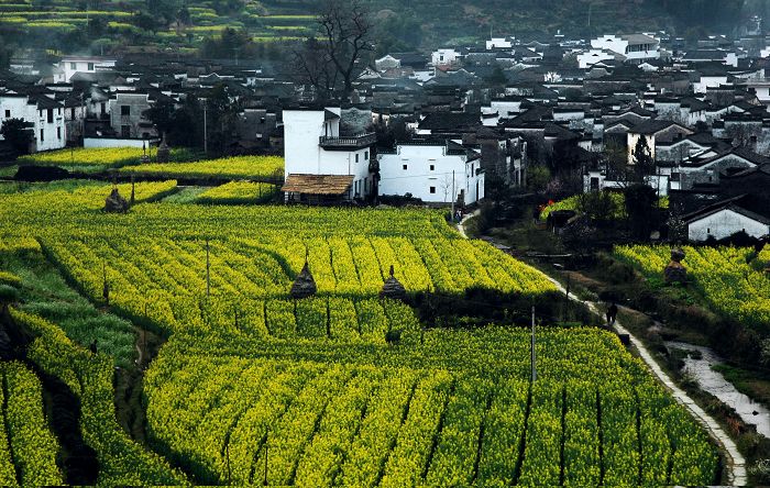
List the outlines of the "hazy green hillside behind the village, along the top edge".
{"type": "MultiPolygon", "coordinates": [[[[380,51],[476,42],[490,35],[590,36],[617,31],[735,27],[757,0],[364,0],[376,19],[380,51]]],[[[94,54],[163,51],[191,54],[227,27],[256,45],[314,32],[320,0],[0,0],[0,41],[94,54]]],[[[222,53],[218,53],[222,54],[222,53]]],[[[244,56],[255,52],[243,53],[244,56]]],[[[260,54],[256,52],[256,54],[260,54]]],[[[239,53],[228,54],[238,56],[239,53]]]]}

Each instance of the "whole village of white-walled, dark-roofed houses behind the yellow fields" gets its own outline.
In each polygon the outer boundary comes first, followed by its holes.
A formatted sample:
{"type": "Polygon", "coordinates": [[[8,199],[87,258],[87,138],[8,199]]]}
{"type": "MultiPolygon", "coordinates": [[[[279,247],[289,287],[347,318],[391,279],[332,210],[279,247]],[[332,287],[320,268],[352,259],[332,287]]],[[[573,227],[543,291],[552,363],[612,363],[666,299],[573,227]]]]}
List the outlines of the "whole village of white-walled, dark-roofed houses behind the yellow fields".
{"type": "Polygon", "coordinates": [[[33,151],[141,146],[163,136],[144,115],[158,101],[179,106],[226,85],[241,107],[228,149],[284,152],[287,201],[471,206],[492,186],[524,188],[535,168],[575,191],[619,190],[636,174],[681,209],[691,240],[761,237],[770,36],[743,34],[696,44],[663,32],[492,36],[389,53],[362,67],[344,104],[244,60],[64,56],[48,76],[14,59],[0,115],[34,125],[33,151]],[[651,165],[635,171],[642,160],[651,165]]]}

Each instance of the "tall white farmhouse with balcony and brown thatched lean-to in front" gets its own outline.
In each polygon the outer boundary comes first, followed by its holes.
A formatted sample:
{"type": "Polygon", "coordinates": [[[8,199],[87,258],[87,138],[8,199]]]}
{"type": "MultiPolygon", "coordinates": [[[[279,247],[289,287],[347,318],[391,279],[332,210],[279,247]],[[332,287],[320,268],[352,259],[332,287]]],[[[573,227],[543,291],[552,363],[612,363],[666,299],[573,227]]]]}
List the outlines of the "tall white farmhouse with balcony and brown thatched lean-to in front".
{"type": "Polygon", "coordinates": [[[340,135],[339,107],[284,110],[283,191],[288,201],[364,199],[375,190],[370,159],[376,135],[340,135]]]}

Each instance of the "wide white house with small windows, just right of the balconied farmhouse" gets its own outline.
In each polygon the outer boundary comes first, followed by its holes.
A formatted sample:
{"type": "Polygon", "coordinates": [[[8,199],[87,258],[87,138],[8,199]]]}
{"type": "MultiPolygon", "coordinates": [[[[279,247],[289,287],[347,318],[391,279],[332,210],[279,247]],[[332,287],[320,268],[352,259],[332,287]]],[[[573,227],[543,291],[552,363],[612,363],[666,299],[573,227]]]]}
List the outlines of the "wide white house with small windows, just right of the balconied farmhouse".
{"type": "Polygon", "coordinates": [[[451,141],[403,142],[380,153],[380,195],[411,193],[429,203],[484,198],[481,153],[451,141]]]}

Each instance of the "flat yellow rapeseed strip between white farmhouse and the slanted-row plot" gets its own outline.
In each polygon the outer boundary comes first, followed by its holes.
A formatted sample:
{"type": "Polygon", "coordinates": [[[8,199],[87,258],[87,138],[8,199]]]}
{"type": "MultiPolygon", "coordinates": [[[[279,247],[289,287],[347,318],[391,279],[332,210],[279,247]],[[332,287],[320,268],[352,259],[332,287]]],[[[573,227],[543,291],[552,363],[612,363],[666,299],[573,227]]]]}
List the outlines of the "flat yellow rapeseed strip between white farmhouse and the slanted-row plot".
{"type": "MultiPolygon", "coordinates": [[[[111,186],[85,186],[65,191],[52,185],[40,190],[0,195],[0,235],[54,235],[123,239],[139,236],[263,236],[277,239],[318,236],[400,236],[460,239],[439,211],[407,209],[339,209],[285,206],[136,206],[127,214],[97,214],[111,186]],[[58,189],[57,189],[58,188],[58,189]],[[279,235],[280,234],[280,235],[279,235]]],[[[61,186],[59,186],[61,187],[61,186]]],[[[119,185],[129,197],[130,185],[119,185]]],[[[174,181],[136,184],[136,192],[151,192],[174,181]]],[[[36,188],[36,187],[35,187],[36,188]]],[[[155,191],[163,195],[163,192],[155,191]]],[[[139,199],[141,200],[141,199],[139,199]]]]}

